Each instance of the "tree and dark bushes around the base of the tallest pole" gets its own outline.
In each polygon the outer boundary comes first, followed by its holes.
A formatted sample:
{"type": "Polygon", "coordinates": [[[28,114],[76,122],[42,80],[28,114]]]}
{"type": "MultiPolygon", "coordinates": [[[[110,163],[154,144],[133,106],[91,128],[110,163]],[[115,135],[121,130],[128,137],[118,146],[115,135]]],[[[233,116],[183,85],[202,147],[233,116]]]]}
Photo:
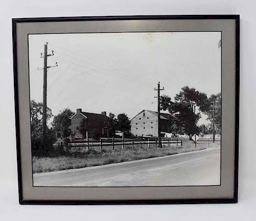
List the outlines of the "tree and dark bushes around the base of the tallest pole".
{"type": "MultiPolygon", "coordinates": [[[[47,107],[47,120],[52,117],[52,111],[47,107]]],[[[42,103],[31,100],[30,102],[30,122],[31,122],[31,144],[33,154],[46,154],[54,142],[52,129],[47,127],[46,144],[42,144],[42,103]],[[43,150],[42,147],[45,147],[43,150]],[[44,151],[44,152],[43,152],[44,151]]]]}

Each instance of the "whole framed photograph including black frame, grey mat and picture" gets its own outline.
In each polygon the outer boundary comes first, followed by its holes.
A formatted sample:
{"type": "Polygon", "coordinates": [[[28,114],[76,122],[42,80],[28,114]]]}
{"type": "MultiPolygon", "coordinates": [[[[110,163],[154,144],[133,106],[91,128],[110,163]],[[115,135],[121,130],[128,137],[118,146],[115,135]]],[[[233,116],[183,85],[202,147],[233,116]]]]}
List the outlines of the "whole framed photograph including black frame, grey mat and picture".
{"type": "Polygon", "coordinates": [[[239,15],[12,24],[20,204],[238,201],[239,15]]]}

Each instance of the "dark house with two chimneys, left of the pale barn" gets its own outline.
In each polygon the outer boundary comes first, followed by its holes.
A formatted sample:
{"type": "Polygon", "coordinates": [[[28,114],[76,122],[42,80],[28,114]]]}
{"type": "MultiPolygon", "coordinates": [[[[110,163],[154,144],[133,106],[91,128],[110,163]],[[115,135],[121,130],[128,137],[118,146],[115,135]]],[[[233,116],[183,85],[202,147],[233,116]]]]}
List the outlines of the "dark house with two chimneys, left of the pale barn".
{"type": "Polygon", "coordinates": [[[99,138],[108,135],[109,128],[106,127],[106,121],[108,117],[106,112],[101,114],[82,112],[81,108],[76,109],[76,114],[71,117],[71,131],[74,139],[85,139],[86,133],[82,133],[79,130],[81,123],[84,121],[87,123],[87,131],[89,138],[99,138]]]}

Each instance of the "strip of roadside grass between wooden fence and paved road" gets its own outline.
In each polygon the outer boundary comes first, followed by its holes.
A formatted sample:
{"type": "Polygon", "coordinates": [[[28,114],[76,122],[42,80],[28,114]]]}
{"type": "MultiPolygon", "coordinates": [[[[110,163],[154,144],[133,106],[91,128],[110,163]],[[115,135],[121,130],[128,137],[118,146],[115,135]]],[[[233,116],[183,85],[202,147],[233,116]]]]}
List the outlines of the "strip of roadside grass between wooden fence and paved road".
{"type": "MultiPolygon", "coordinates": [[[[220,142],[217,142],[214,145],[220,146],[220,142]]],[[[202,150],[211,146],[212,143],[208,144],[207,142],[200,142],[197,144],[197,147],[195,147],[195,144],[193,142],[187,141],[183,146],[165,146],[162,148],[155,146],[150,146],[148,148],[147,145],[142,145],[142,147],[136,146],[134,149],[126,148],[116,151],[102,150],[100,152],[95,149],[90,149],[85,152],[72,151],[67,156],[33,157],[33,173],[67,170],[154,157],[162,157],[176,153],[202,150]]]]}

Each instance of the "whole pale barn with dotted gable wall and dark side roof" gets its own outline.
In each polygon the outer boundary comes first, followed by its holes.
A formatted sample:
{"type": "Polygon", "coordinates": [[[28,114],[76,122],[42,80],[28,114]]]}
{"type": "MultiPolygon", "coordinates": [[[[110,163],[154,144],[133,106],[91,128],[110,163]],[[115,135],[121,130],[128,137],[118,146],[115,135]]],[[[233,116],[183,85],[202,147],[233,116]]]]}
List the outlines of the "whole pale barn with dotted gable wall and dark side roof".
{"type": "MultiPolygon", "coordinates": [[[[172,132],[171,118],[173,116],[170,114],[160,113],[161,132],[172,132]]],[[[136,137],[146,135],[158,137],[158,113],[148,110],[141,111],[131,119],[131,133],[136,137]]]]}

